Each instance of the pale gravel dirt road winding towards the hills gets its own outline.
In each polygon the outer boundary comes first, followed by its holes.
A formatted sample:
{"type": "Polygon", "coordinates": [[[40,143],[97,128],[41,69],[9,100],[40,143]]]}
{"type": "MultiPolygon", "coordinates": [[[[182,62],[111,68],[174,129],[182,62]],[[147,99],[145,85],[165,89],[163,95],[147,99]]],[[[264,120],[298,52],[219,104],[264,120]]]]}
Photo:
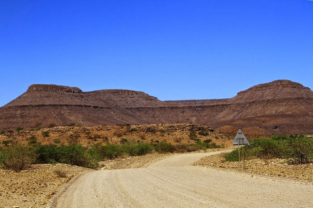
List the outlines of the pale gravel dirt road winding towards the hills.
{"type": "Polygon", "coordinates": [[[208,154],[169,157],[148,168],[86,173],[57,207],[313,207],[312,185],[187,166],[208,154]]]}

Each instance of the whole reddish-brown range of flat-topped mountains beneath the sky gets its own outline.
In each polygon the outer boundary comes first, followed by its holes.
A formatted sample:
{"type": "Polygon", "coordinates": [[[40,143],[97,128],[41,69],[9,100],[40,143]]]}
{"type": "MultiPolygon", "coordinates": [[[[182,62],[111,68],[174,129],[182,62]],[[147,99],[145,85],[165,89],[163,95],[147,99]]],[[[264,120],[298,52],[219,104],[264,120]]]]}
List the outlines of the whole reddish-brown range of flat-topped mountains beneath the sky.
{"type": "Polygon", "coordinates": [[[76,123],[200,123],[250,137],[313,133],[313,91],[289,80],[255,85],[229,99],[160,101],[144,92],[31,85],[0,108],[0,129],[76,123]]]}

